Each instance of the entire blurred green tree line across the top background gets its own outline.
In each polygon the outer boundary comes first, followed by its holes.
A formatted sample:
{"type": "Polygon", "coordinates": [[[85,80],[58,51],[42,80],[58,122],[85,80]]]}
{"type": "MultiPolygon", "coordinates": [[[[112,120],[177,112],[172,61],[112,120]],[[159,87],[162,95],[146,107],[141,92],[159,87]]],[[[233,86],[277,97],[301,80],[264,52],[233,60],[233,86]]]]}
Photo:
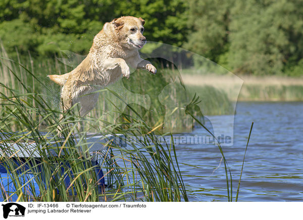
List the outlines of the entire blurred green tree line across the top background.
{"type": "MultiPolygon", "coordinates": [[[[2,0],[0,38],[14,56],[86,54],[105,22],[142,17],[145,36],[238,74],[303,73],[301,0],[2,0]]],[[[197,62],[198,63],[198,62],[197,62]]]]}

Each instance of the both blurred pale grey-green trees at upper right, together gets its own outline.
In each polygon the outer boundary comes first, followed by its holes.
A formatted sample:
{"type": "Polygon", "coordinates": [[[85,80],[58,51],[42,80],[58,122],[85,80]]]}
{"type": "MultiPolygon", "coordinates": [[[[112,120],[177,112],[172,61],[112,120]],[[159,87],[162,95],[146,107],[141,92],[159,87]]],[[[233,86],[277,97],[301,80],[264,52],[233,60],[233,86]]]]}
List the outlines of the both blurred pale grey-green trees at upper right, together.
{"type": "Polygon", "coordinates": [[[184,45],[234,73],[299,75],[302,11],[296,0],[191,0],[184,45]]]}

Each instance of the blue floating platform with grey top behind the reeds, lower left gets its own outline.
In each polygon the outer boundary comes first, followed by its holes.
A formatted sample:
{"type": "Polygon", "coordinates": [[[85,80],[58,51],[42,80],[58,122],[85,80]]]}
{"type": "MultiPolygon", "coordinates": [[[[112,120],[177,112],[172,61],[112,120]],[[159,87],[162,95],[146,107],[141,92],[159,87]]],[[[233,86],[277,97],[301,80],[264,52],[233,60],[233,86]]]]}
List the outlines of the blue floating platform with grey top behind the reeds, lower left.
{"type": "MultiPolygon", "coordinates": [[[[95,154],[101,150],[106,150],[106,143],[108,142],[114,143],[119,146],[126,146],[126,144],[122,143],[122,138],[117,138],[117,136],[90,136],[87,138],[89,153],[95,154]]],[[[46,181],[49,181],[45,180],[43,175],[43,168],[41,166],[43,156],[39,153],[41,152],[41,149],[37,150],[37,146],[34,143],[27,143],[26,147],[23,147],[22,144],[20,145],[20,143],[1,143],[0,145],[2,145],[0,154],[2,156],[6,156],[6,159],[3,159],[0,162],[0,187],[2,188],[0,190],[2,192],[0,195],[0,201],[7,201],[6,198],[8,197],[9,201],[16,201],[18,199],[19,195],[16,193],[16,187],[18,186],[16,186],[16,181],[14,181],[16,178],[19,179],[19,182],[22,186],[22,191],[26,192],[26,195],[29,197],[40,195],[39,185],[41,187],[41,184],[38,184],[37,181],[41,180],[41,177],[44,185],[46,185],[46,181]],[[14,172],[9,170],[12,167],[16,168],[14,172]],[[34,171],[32,169],[33,167],[35,167],[34,171]],[[37,178],[37,175],[39,173],[40,179],[37,178]]],[[[51,156],[58,155],[58,151],[55,149],[47,149],[47,153],[51,156]]],[[[64,153],[61,155],[64,155],[64,153]]],[[[96,160],[91,160],[89,162],[94,168],[94,172],[96,174],[98,191],[103,192],[105,188],[104,173],[96,160]]],[[[60,164],[61,172],[56,171],[56,173],[60,175],[65,174],[63,177],[64,184],[66,185],[66,188],[68,188],[68,186],[70,186],[71,182],[73,181],[74,175],[71,171],[69,171],[68,173],[71,176],[70,178],[70,176],[66,174],[67,172],[65,172],[66,169],[70,169],[70,164],[68,162],[61,161],[61,163],[64,163],[60,164]]],[[[72,191],[71,189],[69,189],[68,193],[70,195],[76,194],[75,190],[72,191]]]]}

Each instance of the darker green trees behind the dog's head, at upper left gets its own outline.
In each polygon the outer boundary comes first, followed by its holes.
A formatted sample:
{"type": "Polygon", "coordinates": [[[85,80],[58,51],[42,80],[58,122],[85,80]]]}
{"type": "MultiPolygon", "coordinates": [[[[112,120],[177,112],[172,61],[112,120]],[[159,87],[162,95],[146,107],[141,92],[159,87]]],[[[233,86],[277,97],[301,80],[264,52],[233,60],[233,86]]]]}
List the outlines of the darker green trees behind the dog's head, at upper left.
{"type": "Polygon", "coordinates": [[[0,37],[9,52],[17,46],[21,53],[31,49],[43,56],[60,49],[85,54],[105,22],[129,15],[145,19],[148,40],[181,46],[186,40],[185,14],[186,4],[181,0],[4,0],[0,3],[1,27],[11,30],[17,22],[19,30],[16,34],[2,31],[0,37]],[[18,44],[19,33],[27,35],[30,46],[18,44]],[[7,40],[11,38],[15,44],[7,40]]]}

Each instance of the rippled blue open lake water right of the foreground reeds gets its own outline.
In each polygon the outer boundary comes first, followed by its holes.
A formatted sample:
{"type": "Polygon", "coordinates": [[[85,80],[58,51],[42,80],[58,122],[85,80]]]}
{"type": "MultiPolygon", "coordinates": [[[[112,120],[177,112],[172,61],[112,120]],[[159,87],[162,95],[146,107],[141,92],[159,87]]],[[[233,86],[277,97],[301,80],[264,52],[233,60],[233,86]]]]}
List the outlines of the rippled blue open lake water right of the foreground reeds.
{"type": "MultiPolygon", "coordinates": [[[[254,122],[238,201],[303,201],[303,102],[238,102],[236,113],[234,144],[223,147],[233,197],[254,122]]],[[[205,130],[198,127],[192,135],[201,133],[205,130]]],[[[190,201],[227,201],[224,164],[216,145],[180,144],[177,155],[190,201]]]]}

